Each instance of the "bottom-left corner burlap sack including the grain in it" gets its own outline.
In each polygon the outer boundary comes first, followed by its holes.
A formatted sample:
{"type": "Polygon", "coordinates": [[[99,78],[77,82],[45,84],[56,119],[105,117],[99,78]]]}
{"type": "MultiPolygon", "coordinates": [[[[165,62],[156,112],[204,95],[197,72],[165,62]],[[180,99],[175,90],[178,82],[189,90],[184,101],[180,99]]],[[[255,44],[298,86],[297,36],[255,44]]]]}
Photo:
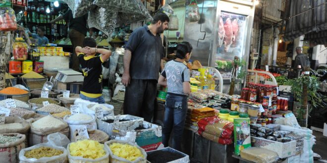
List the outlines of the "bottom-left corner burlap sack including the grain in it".
{"type": "Polygon", "coordinates": [[[0,134],[0,163],[17,163],[19,152],[25,148],[26,136],[19,133],[0,134]]]}

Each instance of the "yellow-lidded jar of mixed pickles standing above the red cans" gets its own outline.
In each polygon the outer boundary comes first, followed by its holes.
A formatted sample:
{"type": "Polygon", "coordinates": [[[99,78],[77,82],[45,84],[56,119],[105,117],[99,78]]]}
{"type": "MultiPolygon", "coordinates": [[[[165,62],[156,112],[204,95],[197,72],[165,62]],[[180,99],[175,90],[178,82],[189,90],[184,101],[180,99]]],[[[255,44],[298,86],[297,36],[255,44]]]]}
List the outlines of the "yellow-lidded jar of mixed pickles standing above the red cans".
{"type": "Polygon", "coordinates": [[[26,60],[28,57],[27,54],[27,43],[23,38],[16,38],[12,44],[12,55],[16,60],[26,60]]]}

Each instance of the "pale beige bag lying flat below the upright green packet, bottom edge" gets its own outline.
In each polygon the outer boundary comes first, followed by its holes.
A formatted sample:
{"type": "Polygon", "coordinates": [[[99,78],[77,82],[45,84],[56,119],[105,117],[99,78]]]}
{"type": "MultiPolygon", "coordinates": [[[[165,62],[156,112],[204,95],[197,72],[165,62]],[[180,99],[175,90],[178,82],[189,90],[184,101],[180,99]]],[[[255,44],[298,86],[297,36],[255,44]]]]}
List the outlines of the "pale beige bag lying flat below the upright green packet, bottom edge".
{"type": "Polygon", "coordinates": [[[276,152],[258,147],[244,149],[240,154],[242,159],[254,163],[273,163],[278,159],[276,152]]]}

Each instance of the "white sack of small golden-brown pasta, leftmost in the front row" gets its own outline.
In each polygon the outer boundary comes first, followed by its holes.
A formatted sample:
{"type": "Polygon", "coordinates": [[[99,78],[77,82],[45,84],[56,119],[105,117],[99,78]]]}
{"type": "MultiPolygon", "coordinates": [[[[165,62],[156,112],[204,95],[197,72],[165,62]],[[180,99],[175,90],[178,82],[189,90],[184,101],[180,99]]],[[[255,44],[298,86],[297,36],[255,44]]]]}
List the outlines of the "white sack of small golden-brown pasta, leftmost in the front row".
{"type": "Polygon", "coordinates": [[[19,152],[19,163],[67,163],[67,150],[50,143],[41,143],[19,152]]]}

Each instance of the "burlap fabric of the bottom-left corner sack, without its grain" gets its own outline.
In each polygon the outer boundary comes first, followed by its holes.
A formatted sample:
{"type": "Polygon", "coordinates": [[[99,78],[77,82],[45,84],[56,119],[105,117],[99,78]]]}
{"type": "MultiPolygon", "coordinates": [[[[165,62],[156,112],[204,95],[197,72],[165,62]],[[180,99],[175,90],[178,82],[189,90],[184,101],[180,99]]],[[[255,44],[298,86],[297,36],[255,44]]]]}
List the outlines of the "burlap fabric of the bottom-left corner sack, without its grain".
{"type": "Polygon", "coordinates": [[[4,133],[5,136],[17,136],[19,140],[11,143],[0,144],[0,163],[18,163],[19,152],[25,148],[26,136],[20,133],[4,133]]]}

